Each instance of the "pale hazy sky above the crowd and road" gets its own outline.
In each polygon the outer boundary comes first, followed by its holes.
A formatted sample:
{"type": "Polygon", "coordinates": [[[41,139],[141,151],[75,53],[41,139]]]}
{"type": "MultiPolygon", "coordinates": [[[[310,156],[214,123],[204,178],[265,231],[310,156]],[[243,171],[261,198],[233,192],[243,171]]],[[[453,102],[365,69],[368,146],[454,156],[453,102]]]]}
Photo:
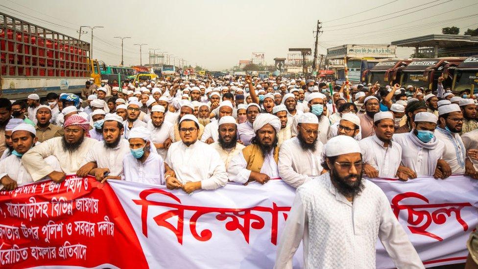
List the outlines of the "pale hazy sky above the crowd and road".
{"type": "MultiPolygon", "coordinates": [[[[130,36],[125,65],[139,64],[139,47],[133,44],[146,43],[143,64],[148,49],[161,49],[209,70],[238,65],[253,51],[264,52],[268,63],[287,57],[288,48],[313,51],[317,20],[324,22],[322,54],[343,44],[389,44],[438,34],[447,26],[460,27],[460,34],[478,27],[476,0],[0,0],[0,11],[73,37],[80,25],[104,26],[94,31],[100,41],[93,41],[93,56],[106,64],[121,61],[121,43],[113,37],[130,36]],[[353,27],[360,24],[367,25],[353,27]]],[[[89,42],[87,30],[81,39],[89,42]]],[[[397,56],[411,52],[397,49],[397,56]]]]}

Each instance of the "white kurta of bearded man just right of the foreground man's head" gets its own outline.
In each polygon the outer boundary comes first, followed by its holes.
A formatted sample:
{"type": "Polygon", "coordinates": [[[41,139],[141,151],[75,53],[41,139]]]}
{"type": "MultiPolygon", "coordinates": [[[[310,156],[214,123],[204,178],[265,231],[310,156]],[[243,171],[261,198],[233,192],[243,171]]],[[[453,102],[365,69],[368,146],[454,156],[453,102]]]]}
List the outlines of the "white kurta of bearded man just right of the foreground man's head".
{"type": "Polygon", "coordinates": [[[362,151],[363,162],[379,171],[379,177],[395,178],[402,161],[402,147],[391,142],[383,147],[377,135],[366,137],[358,142],[362,151]]]}

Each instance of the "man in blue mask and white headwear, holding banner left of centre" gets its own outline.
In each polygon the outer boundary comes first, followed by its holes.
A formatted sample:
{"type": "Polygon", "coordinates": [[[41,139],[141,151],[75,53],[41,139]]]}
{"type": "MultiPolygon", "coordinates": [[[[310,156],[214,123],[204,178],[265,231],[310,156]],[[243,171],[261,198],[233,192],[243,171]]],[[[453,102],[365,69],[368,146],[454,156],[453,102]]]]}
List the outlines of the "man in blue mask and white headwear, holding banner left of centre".
{"type": "Polygon", "coordinates": [[[123,158],[124,177],[126,181],[164,185],[165,164],[151,146],[151,133],[144,127],[136,127],[129,135],[130,153],[123,158]]]}

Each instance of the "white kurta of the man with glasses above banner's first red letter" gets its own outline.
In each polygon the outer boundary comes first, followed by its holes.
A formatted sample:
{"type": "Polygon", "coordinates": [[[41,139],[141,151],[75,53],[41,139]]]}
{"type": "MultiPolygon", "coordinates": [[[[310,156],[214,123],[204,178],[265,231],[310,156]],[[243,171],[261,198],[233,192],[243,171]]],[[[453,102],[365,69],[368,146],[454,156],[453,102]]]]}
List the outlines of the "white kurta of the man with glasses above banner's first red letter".
{"type": "Polygon", "coordinates": [[[209,145],[196,141],[186,146],[182,141],[167,150],[166,163],[183,184],[201,181],[201,189],[215,190],[227,184],[227,173],[219,153],[209,145]]]}

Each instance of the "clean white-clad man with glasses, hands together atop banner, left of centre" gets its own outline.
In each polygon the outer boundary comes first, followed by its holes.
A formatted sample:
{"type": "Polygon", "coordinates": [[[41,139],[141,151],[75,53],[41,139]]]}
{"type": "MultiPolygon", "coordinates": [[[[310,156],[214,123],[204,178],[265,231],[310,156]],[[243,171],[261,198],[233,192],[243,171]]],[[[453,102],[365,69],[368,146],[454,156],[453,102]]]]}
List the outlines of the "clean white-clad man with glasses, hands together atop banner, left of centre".
{"type": "Polygon", "coordinates": [[[179,121],[181,140],[173,143],[166,156],[166,186],[182,189],[215,190],[227,184],[227,173],[219,153],[198,140],[199,122],[191,114],[179,121]],[[205,158],[207,156],[207,158],[205,158]]]}

